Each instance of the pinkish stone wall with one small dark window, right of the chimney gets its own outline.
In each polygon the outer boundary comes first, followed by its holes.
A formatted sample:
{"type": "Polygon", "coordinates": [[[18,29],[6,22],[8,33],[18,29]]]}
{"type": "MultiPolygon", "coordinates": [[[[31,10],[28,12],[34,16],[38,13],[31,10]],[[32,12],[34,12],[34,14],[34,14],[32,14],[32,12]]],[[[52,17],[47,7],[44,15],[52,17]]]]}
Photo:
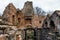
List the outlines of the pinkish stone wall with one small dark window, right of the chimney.
{"type": "Polygon", "coordinates": [[[32,25],[34,27],[42,28],[42,24],[43,24],[44,19],[45,19],[45,16],[34,15],[34,17],[32,19],[32,25]]]}

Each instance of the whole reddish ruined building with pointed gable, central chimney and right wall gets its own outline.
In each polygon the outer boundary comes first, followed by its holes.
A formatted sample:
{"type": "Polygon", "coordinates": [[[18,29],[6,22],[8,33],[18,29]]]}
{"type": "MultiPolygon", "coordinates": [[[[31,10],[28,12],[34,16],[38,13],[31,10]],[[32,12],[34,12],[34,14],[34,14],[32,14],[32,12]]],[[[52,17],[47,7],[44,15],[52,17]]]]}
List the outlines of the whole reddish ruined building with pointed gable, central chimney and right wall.
{"type": "Polygon", "coordinates": [[[27,1],[22,10],[16,9],[12,3],[8,4],[2,17],[6,24],[17,25],[17,28],[24,29],[29,25],[41,28],[46,16],[35,15],[32,2],[27,1]]]}

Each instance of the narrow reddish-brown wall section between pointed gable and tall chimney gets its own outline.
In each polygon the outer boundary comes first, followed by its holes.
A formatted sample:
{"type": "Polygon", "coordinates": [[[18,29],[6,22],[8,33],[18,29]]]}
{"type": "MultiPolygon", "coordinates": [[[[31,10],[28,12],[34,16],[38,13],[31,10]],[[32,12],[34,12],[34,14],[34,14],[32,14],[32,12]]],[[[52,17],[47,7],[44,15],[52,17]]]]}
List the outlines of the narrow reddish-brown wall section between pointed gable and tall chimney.
{"type": "Polygon", "coordinates": [[[25,26],[24,14],[22,13],[21,10],[17,10],[16,16],[17,16],[17,27],[23,28],[25,26]]]}

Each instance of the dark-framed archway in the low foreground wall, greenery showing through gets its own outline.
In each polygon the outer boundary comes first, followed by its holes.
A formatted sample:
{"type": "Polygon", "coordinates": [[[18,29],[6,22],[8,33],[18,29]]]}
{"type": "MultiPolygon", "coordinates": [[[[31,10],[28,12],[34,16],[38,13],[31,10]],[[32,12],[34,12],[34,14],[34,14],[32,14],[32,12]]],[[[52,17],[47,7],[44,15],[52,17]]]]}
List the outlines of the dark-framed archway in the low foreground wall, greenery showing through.
{"type": "Polygon", "coordinates": [[[25,29],[25,40],[35,40],[35,29],[32,26],[27,26],[25,29]]]}

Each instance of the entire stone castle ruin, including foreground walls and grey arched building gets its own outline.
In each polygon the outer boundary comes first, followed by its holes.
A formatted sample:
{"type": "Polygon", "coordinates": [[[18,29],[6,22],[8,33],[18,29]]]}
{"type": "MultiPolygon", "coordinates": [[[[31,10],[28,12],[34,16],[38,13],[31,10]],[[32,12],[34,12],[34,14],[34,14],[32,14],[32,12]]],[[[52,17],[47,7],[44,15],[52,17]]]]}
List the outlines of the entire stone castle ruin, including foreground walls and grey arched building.
{"type": "Polygon", "coordinates": [[[9,3],[0,18],[2,40],[57,40],[60,32],[60,11],[52,15],[34,13],[33,4],[25,2],[22,10],[9,3]]]}

